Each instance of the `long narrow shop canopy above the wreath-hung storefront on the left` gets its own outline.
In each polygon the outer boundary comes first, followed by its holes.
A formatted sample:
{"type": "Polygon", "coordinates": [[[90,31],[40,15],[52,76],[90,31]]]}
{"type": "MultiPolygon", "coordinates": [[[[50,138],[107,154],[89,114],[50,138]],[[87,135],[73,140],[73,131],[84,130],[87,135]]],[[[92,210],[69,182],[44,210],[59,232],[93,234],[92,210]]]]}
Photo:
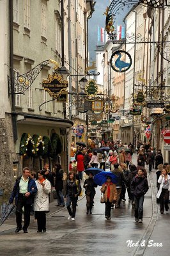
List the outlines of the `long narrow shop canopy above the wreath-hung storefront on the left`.
{"type": "Polygon", "coordinates": [[[17,123],[28,124],[28,125],[45,125],[45,126],[56,126],[61,128],[70,128],[73,122],[69,119],[56,118],[52,116],[33,115],[29,113],[18,113],[14,112],[17,116],[17,123]]]}

